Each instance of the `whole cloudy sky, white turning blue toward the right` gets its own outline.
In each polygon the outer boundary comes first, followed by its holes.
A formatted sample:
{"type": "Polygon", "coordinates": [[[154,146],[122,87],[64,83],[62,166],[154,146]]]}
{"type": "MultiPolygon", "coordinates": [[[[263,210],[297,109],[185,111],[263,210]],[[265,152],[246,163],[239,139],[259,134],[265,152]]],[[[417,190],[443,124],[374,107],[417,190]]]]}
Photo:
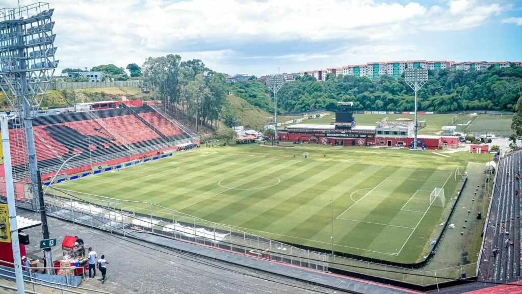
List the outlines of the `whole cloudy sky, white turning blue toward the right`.
{"type": "MultiPolygon", "coordinates": [[[[522,1],[46,2],[55,8],[60,69],[141,65],[169,53],[251,75],[371,61],[522,60],[522,1]]],[[[0,8],[17,5],[0,1],[0,8]]]]}

